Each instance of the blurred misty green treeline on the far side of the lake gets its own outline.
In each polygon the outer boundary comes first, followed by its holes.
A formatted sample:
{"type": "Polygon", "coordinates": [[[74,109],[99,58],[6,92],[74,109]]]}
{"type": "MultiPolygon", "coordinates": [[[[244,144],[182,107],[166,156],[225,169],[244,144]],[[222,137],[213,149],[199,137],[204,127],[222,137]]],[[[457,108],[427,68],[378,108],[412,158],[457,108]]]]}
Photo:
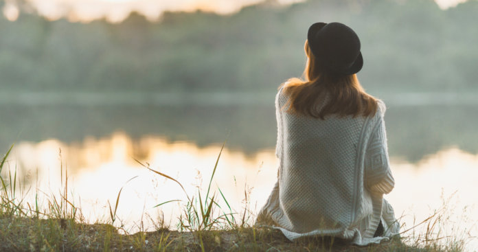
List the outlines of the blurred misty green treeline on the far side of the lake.
{"type": "Polygon", "coordinates": [[[475,88],[477,1],[262,3],[229,16],[166,12],[150,23],[0,19],[2,90],[257,91],[299,76],[308,25],[341,21],[362,40],[369,90],[475,88]]]}

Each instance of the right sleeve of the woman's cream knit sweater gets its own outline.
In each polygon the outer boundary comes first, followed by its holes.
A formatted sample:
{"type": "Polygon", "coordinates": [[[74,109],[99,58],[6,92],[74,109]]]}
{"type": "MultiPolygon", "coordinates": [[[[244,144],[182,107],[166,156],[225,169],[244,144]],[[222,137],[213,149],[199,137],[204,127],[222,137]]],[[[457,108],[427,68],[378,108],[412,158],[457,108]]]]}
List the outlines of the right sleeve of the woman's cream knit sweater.
{"type": "Polygon", "coordinates": [[[365,183],[370,192],[388,194],[394,189],[395,180],[391,174],[385,132],[385,104],[379,102],[378,119],[372,130],[365,153],[365,183]]]}

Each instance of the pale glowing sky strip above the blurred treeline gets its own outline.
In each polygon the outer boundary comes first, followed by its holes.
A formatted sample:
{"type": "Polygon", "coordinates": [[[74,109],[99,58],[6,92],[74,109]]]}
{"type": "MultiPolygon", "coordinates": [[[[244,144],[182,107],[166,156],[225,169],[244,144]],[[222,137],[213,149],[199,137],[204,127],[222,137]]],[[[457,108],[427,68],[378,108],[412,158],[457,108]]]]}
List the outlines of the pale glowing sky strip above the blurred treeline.
{"type": "MultiPolygon", "coordinates": [[[[124,20],[130,12],[144,14],[151,21],[160,19],[166,11],[192,12],[203,10],[219,14],[231,14],[246,5],[260,3],[262,0],[28,0],[40,14],[56,20],[67,17],[70,21],[92,21],[106,18],[111,22],[124,20]]],[[[276,0],[287,5],[304,0],[276,0]]],[[[435,0],[442,9],[450,8],[466,0],[435,0]]],[[[3,14],[10,21],[18,17],[18,9],[7,2],[3,14]]]]}

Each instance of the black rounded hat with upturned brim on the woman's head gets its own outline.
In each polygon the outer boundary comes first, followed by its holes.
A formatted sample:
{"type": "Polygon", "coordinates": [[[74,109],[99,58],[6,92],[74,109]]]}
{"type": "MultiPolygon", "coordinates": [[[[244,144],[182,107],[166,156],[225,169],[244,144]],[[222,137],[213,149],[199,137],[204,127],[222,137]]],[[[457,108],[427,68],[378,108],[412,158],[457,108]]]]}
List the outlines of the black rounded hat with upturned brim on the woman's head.
{"type": "Polygon", "coordinates": [[[307,40],[319,64],[339,75],[350,75],[362,69],[363,58],[357,34],[343,23],[310,25],[307,40]]]}

